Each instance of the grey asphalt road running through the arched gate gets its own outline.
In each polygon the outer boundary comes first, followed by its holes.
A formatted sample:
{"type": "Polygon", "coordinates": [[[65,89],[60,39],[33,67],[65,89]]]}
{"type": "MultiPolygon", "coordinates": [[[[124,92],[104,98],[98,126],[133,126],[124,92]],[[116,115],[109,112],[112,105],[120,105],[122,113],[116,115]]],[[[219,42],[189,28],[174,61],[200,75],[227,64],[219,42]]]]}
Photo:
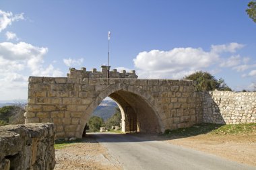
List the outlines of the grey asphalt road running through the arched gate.
{"type": "Polygon", "coordinates": [[[167,142],[148,140],[141,136],[113,133],[91,135],[100,144],[103,144],[115,161],[118,161],[127,170],[256,170],[256,167],[249,167],[167,142]]]}

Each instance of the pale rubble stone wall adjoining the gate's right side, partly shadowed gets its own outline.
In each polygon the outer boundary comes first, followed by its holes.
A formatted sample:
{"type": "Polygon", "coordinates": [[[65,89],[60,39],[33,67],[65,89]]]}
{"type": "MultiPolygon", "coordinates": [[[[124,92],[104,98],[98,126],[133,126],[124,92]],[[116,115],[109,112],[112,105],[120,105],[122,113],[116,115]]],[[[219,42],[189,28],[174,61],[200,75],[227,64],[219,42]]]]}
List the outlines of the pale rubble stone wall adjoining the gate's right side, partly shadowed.
{"type": "Polygon", "coordinates": [[[210,91],[203,97],[203,122],[256,123],[256,92],[210,91]]]}

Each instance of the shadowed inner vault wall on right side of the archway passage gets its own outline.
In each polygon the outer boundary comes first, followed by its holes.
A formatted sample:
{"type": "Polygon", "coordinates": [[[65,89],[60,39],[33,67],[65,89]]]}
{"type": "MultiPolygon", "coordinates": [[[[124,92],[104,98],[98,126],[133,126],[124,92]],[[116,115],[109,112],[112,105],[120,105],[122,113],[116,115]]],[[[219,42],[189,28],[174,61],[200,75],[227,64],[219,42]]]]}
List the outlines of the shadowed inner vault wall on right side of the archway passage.
{"type": "Polygon", "coordinates": [[[143,97],[123,89],[110,93],[108,97],[113,99],[121,110],[122,132],[161,132],[156,111],[143,97]]]}

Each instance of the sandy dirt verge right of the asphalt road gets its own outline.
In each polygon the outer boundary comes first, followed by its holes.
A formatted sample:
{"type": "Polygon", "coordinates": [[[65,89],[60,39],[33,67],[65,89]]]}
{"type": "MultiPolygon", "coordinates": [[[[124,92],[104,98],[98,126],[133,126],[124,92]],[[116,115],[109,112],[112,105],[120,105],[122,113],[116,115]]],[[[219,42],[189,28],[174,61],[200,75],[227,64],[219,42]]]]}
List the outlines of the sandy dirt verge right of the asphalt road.
{"type": "Polygon", "coordinates": [[[166,140],[166,142],[256,167],[256,134],[201,134],[187,138],[166,140]]]}

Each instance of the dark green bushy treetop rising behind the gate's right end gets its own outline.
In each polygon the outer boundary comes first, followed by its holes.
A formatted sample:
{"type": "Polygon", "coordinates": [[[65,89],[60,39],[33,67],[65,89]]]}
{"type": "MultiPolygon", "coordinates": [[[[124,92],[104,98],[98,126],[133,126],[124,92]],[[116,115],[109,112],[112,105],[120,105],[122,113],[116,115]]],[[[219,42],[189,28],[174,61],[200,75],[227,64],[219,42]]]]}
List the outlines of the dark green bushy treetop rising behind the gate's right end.
{"type": "Polygon", "coordinates": [[[187,80],[197,81],[195,88],[197,91],[213,91],[215,89],[221,91],[232,91],[228,85],[226,85],[224,79],[217,80],[213,75],[207,72],[197,71],[191,75],[184,77],[187,80]]]}

